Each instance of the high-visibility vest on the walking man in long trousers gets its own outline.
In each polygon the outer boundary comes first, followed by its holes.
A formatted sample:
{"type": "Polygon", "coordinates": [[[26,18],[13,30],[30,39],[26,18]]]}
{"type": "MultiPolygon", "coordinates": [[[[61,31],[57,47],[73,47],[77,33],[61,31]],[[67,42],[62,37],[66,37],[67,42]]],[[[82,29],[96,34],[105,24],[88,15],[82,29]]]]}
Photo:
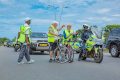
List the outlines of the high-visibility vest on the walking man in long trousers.
{"type": "MultiPolygon", "coordinates": [[[[18,38],[18,41],[21,42],[21,43],[25,43],[26,41],[26,38],[25,38],[25,33],[26,31],[29,30],[29,35],[31,35],[32,31],[31,31],[31,28],[30,27],[26,27],[24,25],[22,25],[20,27],[20,36],[18,38]]],[[[30,38],[29,38],[29,41],[30,41],[30,38]]]]}

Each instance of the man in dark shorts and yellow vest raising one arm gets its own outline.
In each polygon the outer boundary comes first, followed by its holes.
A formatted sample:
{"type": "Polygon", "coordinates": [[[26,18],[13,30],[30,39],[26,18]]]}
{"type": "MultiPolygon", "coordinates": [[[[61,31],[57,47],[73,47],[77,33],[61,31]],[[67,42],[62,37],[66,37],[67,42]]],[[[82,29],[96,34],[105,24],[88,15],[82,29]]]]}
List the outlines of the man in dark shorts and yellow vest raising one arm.
{"type": "MultiPolygon", "coordinates": [[[[52,57],[53,57],[53,51],[57,47],[57,37],[58,37],[58,32],[62,30],[65,25],[63,25],[60,29],[57,29],[58,22],[54,21],[52,25],[48,29],[48,42],[50,43],[50,60],[49,62],[52,62],[52,57]]],[[[57,52],[57,57],[56,60],[59,62],[59,53],[57,52]]]]}

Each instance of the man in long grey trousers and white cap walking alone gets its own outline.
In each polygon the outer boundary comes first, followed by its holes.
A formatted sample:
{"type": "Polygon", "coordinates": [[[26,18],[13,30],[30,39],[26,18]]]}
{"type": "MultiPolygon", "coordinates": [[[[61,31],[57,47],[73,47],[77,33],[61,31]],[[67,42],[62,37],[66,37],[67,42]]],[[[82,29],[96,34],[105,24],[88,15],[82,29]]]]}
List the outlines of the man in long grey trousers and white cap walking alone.
{"type": "Polygon", "coordinates": [[[18,64],[23,64],[22,61],[24,56],[27,60],[28,64],[34,62],[34,60],[30,59],[29,48],[30,48],[30,34],[31,34],[31,19],[26,18],[25,24],[20,27],[20,32],[18,35],[18,41],[21,43],[20,54],[18,58],[18,64]]]}

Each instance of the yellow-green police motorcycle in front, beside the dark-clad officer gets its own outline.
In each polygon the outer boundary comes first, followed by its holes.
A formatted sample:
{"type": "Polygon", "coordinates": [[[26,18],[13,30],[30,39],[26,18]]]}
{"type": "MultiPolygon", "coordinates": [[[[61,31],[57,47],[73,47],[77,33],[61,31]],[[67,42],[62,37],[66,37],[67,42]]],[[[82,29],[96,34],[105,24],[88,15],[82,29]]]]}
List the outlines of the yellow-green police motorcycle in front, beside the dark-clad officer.
{"type": "MultiPolygon", "coordinates": [[[[83,41],[82,41],[83,43],[83,41]]],[[[79,53],[78,61],[86,60],[86,58],[94,58],[96,63],[101,63],[103,60],[103,41],[99,38],[96,32],[92,32],[85,44],[85,49],[79,53]]]]}

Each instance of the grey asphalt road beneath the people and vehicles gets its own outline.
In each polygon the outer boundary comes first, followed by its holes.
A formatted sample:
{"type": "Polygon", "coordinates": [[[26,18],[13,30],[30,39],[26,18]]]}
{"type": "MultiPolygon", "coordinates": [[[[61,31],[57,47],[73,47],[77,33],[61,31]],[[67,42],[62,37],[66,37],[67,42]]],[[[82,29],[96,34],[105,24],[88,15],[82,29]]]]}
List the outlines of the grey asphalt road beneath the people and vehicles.
{"type": "Polygon", "coordinates": [[[34,64],[17,64],[18,52],[0,47],[0,80],[120,80],[120,58],[104,53],[101,64],[92,60],[49,63],[48,55],[31,55],[34,64]]]}

